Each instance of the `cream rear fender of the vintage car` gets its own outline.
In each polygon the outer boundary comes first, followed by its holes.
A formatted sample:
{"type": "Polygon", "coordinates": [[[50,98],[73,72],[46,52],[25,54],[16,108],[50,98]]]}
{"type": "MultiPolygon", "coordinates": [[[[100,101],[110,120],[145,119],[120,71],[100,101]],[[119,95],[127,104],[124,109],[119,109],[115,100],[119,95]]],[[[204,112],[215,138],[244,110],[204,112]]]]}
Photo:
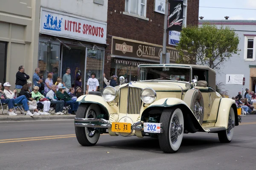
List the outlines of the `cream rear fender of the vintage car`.
{"type": "Polygon", "coordinates": [[[235,125],[239,125],[235,100],[230,98],[221,98],[221,103],[218,108],[217,122],[215,123],[215,126],[222,126],[227,128],[229,112],[231,107],[235,112],[235,125]]]}

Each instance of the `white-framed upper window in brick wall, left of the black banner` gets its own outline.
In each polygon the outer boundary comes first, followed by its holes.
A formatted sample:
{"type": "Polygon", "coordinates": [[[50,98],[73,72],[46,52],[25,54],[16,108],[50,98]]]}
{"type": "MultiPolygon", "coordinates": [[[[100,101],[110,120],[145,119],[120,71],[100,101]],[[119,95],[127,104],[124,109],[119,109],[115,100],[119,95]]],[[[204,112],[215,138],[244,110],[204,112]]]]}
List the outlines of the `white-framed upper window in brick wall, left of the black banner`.
{"type": "Polygon", "coordinates": [[[147,0],[125,0],[125,12],[146,17],[147,0]]]}

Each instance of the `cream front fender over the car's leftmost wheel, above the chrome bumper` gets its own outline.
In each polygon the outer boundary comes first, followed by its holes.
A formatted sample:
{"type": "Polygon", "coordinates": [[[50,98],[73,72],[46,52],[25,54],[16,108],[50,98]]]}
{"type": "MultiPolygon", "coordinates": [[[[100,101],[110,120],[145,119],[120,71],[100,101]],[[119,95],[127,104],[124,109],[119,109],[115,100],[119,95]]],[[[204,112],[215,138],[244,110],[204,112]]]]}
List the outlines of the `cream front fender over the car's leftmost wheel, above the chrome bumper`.
{"type": "Polygon", "coordinates": [[[108,102],[106,102],[102,96],[97,96],[97,95],[92,95],[92,94],[87,94],[80,96],[77,100],[79,103],[96,103],[102,108],[105,109],[105,112],[108,113],[108,115],[112,113],[117,113],[118,107],[116,105],[109,105],[108,102]]]}

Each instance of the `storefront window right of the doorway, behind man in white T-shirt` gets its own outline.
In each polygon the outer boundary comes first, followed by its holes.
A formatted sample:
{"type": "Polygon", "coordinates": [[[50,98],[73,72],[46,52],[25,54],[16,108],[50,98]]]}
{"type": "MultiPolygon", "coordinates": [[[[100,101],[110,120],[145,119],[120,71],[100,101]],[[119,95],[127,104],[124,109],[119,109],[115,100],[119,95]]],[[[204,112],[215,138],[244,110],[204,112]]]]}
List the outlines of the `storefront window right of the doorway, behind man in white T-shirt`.
{"type": "Polygon", "coordinates": [[[87,80],[91,78],[91,74],[96,74],[96,79],[99,81],[99,91],[103,89],[103,62],[104,51],[99,49],[87,48],[86,60],[86,84],[87,80]]]}

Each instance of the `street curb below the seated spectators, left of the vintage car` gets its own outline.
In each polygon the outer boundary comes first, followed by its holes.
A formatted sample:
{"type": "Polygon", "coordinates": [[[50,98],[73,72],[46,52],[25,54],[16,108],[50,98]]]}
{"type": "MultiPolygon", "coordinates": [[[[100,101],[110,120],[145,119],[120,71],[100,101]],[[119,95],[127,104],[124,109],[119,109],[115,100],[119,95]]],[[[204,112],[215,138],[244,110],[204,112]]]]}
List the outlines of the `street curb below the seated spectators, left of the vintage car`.
{"type": "Polygon", "coordinates": [[[73,119],[76,115],[45,115],[45,116],[0,116],[0,122],[8,122],[8,121],[36,121],[36,120],[67,120],[73,119]]]}

